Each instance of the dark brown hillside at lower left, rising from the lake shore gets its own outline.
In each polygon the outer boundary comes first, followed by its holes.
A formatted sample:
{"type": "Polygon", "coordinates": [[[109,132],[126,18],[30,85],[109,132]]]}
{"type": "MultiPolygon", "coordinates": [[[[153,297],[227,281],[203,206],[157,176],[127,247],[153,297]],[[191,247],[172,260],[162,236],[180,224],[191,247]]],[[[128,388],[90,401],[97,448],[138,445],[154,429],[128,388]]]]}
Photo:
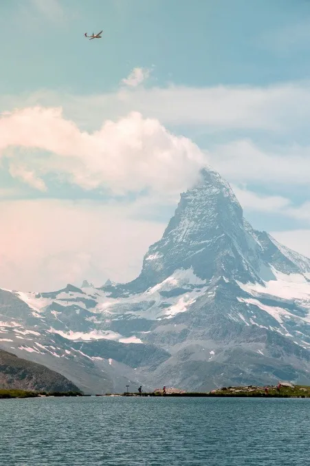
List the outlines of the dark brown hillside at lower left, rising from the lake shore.
{"type": "Polygon", "coordinates": [[[36,392],[79,392],[74,383],[41,364],[0,350],[0,388],[36,392]]]}

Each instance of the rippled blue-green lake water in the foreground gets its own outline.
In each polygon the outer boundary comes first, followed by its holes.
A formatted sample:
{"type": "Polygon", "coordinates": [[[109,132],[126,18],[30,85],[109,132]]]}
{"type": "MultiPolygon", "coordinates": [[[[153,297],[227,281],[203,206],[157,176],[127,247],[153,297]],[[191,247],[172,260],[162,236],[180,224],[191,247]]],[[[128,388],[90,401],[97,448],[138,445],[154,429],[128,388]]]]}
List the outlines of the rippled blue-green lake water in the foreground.
{"type": "Polygon", "coordinates": [[[0,400],[0,465],[304,466],[310,399],[0,400]]]}

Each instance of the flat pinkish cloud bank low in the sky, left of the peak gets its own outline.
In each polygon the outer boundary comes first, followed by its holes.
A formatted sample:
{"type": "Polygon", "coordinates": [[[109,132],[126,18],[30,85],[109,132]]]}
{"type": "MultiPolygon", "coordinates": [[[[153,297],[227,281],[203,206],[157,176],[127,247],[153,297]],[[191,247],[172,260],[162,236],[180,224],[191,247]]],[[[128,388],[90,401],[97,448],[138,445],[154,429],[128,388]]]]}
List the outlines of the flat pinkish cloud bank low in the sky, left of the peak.
{"type": "Polygon", "coordinates": [[[134,204],[0,202],[0,286],[51,290],[87,278],[126,282],[166,224],[133,220],[134,204]]]}

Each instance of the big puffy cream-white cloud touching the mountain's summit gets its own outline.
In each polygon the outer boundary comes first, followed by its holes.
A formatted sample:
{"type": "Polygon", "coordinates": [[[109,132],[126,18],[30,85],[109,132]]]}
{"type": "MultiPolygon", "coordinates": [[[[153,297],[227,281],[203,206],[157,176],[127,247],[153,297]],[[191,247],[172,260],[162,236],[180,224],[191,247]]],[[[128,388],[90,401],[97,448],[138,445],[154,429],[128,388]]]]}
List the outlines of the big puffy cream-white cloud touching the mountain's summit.
{"type": "Polygon", "coordinates": [[[54,173],[83,189],[102,187],[113,194],[179,193],[206,164],[192,141],[137,112],[116,123],[107,120],[90,134],[66,120],[59,108],[25,108],[3,116],[0,133],[0,154],[10,158],[12,176],[41,191],[41,176],[54,173]]]}

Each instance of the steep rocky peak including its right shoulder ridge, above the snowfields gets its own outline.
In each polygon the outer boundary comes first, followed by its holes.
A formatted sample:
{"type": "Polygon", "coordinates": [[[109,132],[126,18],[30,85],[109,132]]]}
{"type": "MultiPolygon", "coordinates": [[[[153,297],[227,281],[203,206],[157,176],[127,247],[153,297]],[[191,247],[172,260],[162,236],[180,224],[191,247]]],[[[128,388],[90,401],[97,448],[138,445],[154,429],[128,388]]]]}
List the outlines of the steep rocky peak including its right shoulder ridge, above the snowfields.
{"type": "Polygon", "coordinates": [[[115,288],[141,293],[176,270],[190,268],[207,281],[223,275],[263,285],[275,278],[274,266],[285,273],[308,272],[310,260],[255,231],[230,184],[217,171],[203,168],[195,186],[181,193],[162,239],[148,249],[140,275],[115,288]]]}

